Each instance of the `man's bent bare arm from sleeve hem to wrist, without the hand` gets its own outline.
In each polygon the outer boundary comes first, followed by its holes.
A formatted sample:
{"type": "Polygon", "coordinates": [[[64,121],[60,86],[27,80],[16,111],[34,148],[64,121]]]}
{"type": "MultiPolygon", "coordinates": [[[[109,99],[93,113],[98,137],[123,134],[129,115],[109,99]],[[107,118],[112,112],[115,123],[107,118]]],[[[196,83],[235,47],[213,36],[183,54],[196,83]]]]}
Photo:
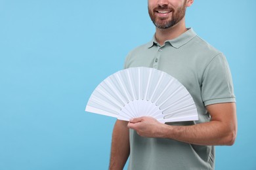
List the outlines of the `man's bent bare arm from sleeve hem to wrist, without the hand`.
{"type": "Polygon", "coordinates": [[[235,103],[207,106],[211,121],[193,126],[165,126],[168,138],[202,145],[232,145],[236,139],[237,120],[235,103]]]}

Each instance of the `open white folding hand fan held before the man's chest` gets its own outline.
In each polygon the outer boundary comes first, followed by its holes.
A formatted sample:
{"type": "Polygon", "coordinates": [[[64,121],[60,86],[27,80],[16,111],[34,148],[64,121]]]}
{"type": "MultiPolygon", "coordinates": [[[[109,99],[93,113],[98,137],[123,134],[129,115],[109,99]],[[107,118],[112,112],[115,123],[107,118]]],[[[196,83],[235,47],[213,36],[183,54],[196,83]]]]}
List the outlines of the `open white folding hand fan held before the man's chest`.
{"type": "Polygon", "coordinates": [[[148,67],[108,76],[91,94],[85,111],[127,121],[140,116],[152,116],[161,123],[198,120],[188,90],[173,76],[148,67]]]}

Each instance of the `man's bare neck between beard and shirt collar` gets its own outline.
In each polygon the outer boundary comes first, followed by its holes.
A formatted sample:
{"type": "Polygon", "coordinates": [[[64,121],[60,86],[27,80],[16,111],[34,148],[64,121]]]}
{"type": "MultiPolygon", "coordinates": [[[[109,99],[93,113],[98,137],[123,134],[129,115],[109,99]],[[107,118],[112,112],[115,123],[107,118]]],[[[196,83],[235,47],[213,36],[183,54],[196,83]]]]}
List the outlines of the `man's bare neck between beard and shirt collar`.
{"type": "Polygon", "coordinates": [[[173,25],[172,27],[169,27],[167,29],[160,29],[156,27],[156,41],[163,45],[165,41],[175,39],[179,37],[182,33],[186,32],[186,25],[184,22],[184,18],[177,23],[176,25],[173,25]]]}

